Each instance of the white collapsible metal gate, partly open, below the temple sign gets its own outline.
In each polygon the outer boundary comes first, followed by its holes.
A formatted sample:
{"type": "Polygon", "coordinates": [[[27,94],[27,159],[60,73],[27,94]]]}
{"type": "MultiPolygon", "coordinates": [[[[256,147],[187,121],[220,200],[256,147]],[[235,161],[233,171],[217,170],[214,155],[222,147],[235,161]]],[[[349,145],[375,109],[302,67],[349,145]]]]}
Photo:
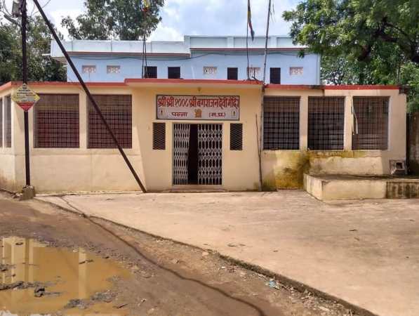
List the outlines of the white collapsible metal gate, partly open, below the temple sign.
{"type": "MultiPolygon", "coordinates": [[[[198,125],[198,184],[222,185],[222,124],[198,125]]],[[[173,126],[173,185],[187,185],[191,124],[173,126]]]]}

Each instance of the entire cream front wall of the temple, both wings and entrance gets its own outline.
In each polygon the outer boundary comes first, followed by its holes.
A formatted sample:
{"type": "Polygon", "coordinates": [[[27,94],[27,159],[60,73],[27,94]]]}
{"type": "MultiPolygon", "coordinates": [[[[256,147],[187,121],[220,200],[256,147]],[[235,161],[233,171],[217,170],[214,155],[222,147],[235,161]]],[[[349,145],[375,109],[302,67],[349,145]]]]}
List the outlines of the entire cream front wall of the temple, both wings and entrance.
{"type": "MultiPolygon", "coordinates": [[[[29,112],[32,184],[38,192],[139,190],[117,150],[87,149],[86,95],[77,86],[37,86],[38,93],[79,93],[80,148],[33,148],[33,110],[29,112]]],[[[230,151],[230,124],[223,126],[222,186],[225,190],[258,190],[258,131],[260,127],[260,88],[244,86],[175,87],[92,87],[93,94],[131,94],[133,96],[133,148],[126,150],[134,169],[147,190],[173,189],[173,124],[166,121],[166,150],[152,150],[152,124],[156,122],[156,96],[204,95],[240,96],[241,123],[244,124],[242,151],[230,151]]],[[[0,96],[11,94],[11,89],[0,96]]],[[[265,188],[302,187],[304,172],[319,174],[385,174],[390,172],[390,159],[406,157],[406,96],[397,90],[279,90],[267,88],[267,96],[301,96],[300,150],[263,151],[262,175],[265,188]],[[345,150],[334,152],[307,151],[307,117],[309,96],[346,96],[345,150]],[[352,151],[352,96],[390,96],[390,147],[386,151],[352,151]]],[[[0,148],[0,187],[19,190],[25,184],[25,146],[23,112],[13,104],[13,146],[0,148]]],[[[159,120],[161,122],[161,120],[159,120]]],[[[187,122],[187,121],[181,121],[187,122]]],[[[218,123],[189,121],[189,123],[218,123]]]]}

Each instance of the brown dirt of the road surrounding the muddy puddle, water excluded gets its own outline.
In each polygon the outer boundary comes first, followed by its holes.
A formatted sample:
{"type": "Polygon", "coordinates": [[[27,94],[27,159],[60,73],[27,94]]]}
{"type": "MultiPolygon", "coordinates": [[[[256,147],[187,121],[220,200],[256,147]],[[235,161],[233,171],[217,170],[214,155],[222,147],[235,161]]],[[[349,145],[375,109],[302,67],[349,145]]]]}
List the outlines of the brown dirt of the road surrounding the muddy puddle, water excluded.
{"type": "MultiPolygon", "coordinates": [[[[69,251],[82,248],[91,256],[117,263],[128,271],[129,277],[112,279],[105,291],[106,303],[97,304],[102,312],[106,310],[105,315],[354,315],[342,305],[295,291],[209,251],[102,220],[88,220],[41,202],[15,202],[8,195],[0,195],[0,223],[0,240],[14,236],[69,251]]],[[[104,274],[109,271],[112,270],[103,269],[104,274]]],[[[95,285],[93,277],[86,275],[86,279],[92,282],[89,285],[95,285]]],[[[7,297],[1,296],[1,282],[0,277],[0,315],[2,307],[8,304],[1,301],[7,297]]],[[[49,312],[94,312],[94,299],[87,297],[84,301],[90,302],[90,308],[70,300],[49,312]]],[[[25,305],[25,300],[21,304],[25,305]]]]}

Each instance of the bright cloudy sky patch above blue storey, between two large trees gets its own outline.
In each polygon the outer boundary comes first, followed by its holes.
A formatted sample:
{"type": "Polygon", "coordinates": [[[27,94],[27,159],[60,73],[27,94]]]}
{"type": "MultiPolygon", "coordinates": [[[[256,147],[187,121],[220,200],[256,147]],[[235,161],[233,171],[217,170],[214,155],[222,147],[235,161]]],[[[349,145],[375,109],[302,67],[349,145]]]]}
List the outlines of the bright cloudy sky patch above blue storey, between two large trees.
{"type": "MultiPolygon", "coordinates": [[[[252,22],[257,35],[264,35],[268,0],[252,0],[252,22]]],[[[282,19],[285,10],[294,8],[298,0],[273,0],[274,17],[270,34],[288,34],[289,24],[282,19]]],[[[245,35],[247,25],[246,0],[167,0],[161,11],[163,29],[187,35],[245,35]]],[[[154,34],[152,36],[154,38],[154,34]]]]}

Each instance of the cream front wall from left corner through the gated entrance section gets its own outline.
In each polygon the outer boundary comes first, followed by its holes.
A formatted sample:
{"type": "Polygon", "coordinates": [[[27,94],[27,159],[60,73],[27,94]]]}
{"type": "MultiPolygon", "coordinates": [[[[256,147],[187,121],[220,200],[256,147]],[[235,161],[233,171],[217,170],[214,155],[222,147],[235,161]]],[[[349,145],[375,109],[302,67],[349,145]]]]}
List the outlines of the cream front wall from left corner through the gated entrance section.
{"type": "MultiPolygon", "coordinates": [[[[33,110],[29,111],[29,141],[31,147],[31,178],[37,192],[139,190],[131,172],[117,150],[91,150],[87,148],[86,95],[81,88],[32,86],[37,93],[79,93],[80,106],[80,148],[46,149],[34,148],[33,110]]],[[[142,182],[150,191],[171,190],[173,162],[173,124],[166,122],[166,150],[152,149],[152,124],[156,119],[157,94],[182,94],[205,96],[240,96],[241,120],[244,124],[244,150],[230,151],[230,123],[223,126],[223,169],[222,186],[225,190],[258,190],[258,138],[256,115],[260,113],[260,89],[228,88],[91,88],[93,94],[131,94],[133,96],[133,148],[126,154],[131,160],[142,182]],[[256,105],[256,106],[255,106],[256,105]]],[[[14,174],[12,179],[16,190],[25,184],[25,146],[23,112],[15,108],[13,122],[14,143],[13,166],[1,170],[14,174]]],[[[159,120],[159,122],[162,122],[159,120]]],[[[180,121],[178,121],[180,122],[180,121]]],[[[187,123],[187,121],[181,121],[187,123]]],[[[189,121],[189,123],[218,123],[217,121],[189,121]]],[[[258,123],[260,124],[260,123],[258,123]]],[[[260,126],[260,125],[259,125],[260,126]]],[[[4,157],[2,157],[4,159],[4,157]]]]}

